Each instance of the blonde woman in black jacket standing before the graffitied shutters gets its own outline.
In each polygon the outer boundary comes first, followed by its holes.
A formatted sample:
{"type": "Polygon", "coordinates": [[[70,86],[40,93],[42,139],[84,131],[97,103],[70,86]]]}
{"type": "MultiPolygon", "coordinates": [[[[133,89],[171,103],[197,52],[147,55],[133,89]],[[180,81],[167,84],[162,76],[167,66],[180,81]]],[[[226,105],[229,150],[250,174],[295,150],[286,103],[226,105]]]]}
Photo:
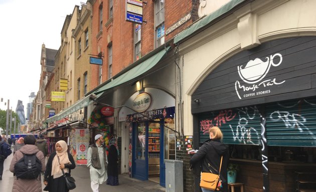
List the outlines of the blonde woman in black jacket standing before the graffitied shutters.
{"type": "MultiPolygon", "coordinates": [[[[227,182],[227,166],[229,161],[228,146],[222,142],[223,133],[217,126],[212,126],[209,130],[210,139],[205,141],[199,150],[191,157],[190,164],[201,163],[202,172],[213,172],[218,174],[221,157],[223,156],[222,167],[220,170],[220,179],[222,186],[219,191],[228,192],[227,182]]],[[[212,190],[202,188],[203,192],[210,192],[212,190]]]]}

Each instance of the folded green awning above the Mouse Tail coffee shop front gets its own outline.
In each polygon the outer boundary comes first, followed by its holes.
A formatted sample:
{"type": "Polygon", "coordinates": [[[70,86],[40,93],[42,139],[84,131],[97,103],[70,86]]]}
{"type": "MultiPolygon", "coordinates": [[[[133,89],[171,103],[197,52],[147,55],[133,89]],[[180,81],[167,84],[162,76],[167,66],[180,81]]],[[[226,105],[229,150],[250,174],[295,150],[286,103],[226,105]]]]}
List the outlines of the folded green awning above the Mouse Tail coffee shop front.
{"type": "Polygon", "coordinates": [[[217,17],[223,15],[224,13],[228,12],[229,10],[231,10],[232,8],[234,8],[235,6],[237,6],[238,4],[240,4],[243,1],[245,1],[245,0],[231,0],[228,3],[224,4],[219,9],[215,10],[214,12],[212,12],[209,15],[206,15],[204,18],[202,18],[201,20],[199,20],[196,23],[192,24],[189,28],[187,28],[186,30],[183,30],[181,33],[179,33],[177,36],[175,36],[174,43],[177,43],[180,40],[188,37],[192,33],[196,32],[200,28],[202,28],[205,25],[209,24],[212,20],[214,20],[215,18],[217,18],[217,17]]]}

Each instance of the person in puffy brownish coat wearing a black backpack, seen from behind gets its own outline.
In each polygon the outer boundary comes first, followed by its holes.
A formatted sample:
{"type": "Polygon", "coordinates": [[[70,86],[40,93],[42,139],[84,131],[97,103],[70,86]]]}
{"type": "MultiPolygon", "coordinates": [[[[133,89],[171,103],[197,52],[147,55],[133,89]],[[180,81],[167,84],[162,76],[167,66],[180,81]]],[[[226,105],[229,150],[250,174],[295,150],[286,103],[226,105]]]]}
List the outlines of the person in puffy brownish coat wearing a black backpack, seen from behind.
{"type": "MultiPolygon", "coordinates": [[[[13,182],[13,192],[41,192],[42,191],[42,182],[41,182],[41,174],[40,171],[45,171],[45,157],[42,151],[38,149],[37,146],[35,146],[36,138],[33,134],[28,134],[24,137],[24,146],[20,148],[20,150],[17,150],[12,158],[11,164],[10,164],[10,171],[15,173],[14,182],[13,182]],[[25,173],[28,175],[28,171],[23,170],[23,163],[22,158],[28,158],[28,156],[34,156],[32,154],[35,154],[36,156],[36,166],[39,166],[40,161],[40,171],[33,172],[31,177],[24,177],[20,176],[21,172],[22,174],[25,173]],[[17,166],[21,165],[21,166],[17,166]],[[17,168],[19,167],[19,168],[17,168]],[[35,177],[35,178],[33,178],[35,177]]],[[[33,163],[32,163],[33,164],[33,163]]],[[[33,169],[33,168],[32,168],[33,169]]],[[[39,169],[39,168],[36,168],[39,169]]]]}

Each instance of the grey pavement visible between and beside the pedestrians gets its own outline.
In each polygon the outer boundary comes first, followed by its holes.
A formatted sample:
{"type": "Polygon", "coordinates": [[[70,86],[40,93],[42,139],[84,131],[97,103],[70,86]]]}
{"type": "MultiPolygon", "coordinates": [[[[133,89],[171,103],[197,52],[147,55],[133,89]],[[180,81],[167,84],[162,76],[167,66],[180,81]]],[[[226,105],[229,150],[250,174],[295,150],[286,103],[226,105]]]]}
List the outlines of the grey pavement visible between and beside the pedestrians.
{"type": "MultiPolygon", "coordinates": [[[[13,173],[9,170],[9,166],[12,160],[13,154],[8,156],[4,163],[4,172],[3,179],[0,180],[0,191],[1,192],[9,192],[12,191],[14,176],[13,173]]],[[[77,165],[75,169],[71,170],[71,175],[76,179],[77,187],[71,191],[74,192],[86,192],[92,191],[90,187],[90,173],[89,168],[85,165],[77,165]]],[[[43,176],[42,176],[43,180],[43,176]]],[[[139,192],[139,191],[147,191],[147,192],[162,192],[166,191],[166,188],[161,186],[159,183],[151,181],[151,180],[138,180],[135,178],[131,178],[128,174],[123,173],[118,175],[119,185],[111,186],[103,183],[99,186],[99,191],[107,191],[107,192],[120,192],[120,191],[128,191],[128,192],[139,192]]],[[[42,188],[45,185],[42,183],[42,188]]]]}

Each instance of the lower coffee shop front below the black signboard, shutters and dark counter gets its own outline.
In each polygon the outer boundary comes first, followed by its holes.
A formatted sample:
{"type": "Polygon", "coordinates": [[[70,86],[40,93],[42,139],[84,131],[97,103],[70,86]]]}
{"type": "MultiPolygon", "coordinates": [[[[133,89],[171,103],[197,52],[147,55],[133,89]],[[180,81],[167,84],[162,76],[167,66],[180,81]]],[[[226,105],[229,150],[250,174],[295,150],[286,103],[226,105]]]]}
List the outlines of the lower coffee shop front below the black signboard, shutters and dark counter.
{"type": "Polygon", "coordinates": [[[229,144],[230,161],[238,163],[237,182],[245,191],[261,191],[260,111],[266,116],[269,191],[294,191],[296,173],[316,172],[316,97],[244,106],[198,114],[200,142],[208,128],[219,126],[229,144]]]}

